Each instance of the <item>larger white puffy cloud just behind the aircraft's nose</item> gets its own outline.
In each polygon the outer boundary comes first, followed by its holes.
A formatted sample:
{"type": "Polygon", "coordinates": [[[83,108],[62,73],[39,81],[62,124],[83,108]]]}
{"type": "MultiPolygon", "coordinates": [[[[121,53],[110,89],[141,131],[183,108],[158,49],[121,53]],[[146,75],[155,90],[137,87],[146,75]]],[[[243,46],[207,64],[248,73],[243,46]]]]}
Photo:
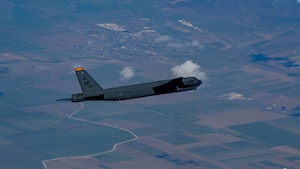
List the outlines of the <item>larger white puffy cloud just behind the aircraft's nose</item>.
{"type": "Polygon", "coordinates": [[[194,76],[200,80],[207,80],[208,77],[205,72],[201,71],[200,65],[194,63],[191,60],[187,60],[184,63],[177,65],[171,69],[172,73],[176,77],[189,77],[194,76]]]}

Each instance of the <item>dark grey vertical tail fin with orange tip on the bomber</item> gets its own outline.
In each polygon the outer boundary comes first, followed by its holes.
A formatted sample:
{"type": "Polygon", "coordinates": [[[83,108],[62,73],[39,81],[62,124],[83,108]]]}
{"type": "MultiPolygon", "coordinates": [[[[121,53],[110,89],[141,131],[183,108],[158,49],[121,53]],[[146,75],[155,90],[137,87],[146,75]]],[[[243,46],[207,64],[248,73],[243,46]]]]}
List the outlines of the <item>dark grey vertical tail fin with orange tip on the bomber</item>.
{"type": "Polygon", "coordinates": [[[88,74],[87,71],[84,70],[83,67],[77,67],[74,70],[83,93],[103,90],[103,88],[88,74]]]}

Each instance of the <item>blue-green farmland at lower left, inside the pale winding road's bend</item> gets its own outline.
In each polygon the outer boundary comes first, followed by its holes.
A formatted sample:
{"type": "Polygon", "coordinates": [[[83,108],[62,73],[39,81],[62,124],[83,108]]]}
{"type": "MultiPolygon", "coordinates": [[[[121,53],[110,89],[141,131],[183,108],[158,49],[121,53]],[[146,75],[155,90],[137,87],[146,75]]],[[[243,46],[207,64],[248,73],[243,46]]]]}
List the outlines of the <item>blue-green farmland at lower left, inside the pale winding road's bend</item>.
{"type": "Polygon", "coordinates": [[[1,104],[0,164],[3,168],[42,168],[42,160],[108,151],[133,138],[122,130],[60,118],[25,113],[1,104]],[[18,161],[12,164],[10,161],[18,161]]]}

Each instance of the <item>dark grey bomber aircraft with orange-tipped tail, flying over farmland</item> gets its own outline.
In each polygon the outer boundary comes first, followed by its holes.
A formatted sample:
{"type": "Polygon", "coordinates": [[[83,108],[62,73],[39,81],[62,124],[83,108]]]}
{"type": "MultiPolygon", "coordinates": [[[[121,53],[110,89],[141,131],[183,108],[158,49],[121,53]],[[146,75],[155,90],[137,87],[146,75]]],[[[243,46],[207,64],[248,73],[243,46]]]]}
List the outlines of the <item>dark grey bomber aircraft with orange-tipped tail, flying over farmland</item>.
{"type": "Polygon", "coordinates": [[[139,97],[196,90],[202,83],[195,77],[178,77],[129,86],[103,89],[83,67],[74,69],[82,93],[72,94],[72,102],[85,100],[127,100],[139,97]]]}

